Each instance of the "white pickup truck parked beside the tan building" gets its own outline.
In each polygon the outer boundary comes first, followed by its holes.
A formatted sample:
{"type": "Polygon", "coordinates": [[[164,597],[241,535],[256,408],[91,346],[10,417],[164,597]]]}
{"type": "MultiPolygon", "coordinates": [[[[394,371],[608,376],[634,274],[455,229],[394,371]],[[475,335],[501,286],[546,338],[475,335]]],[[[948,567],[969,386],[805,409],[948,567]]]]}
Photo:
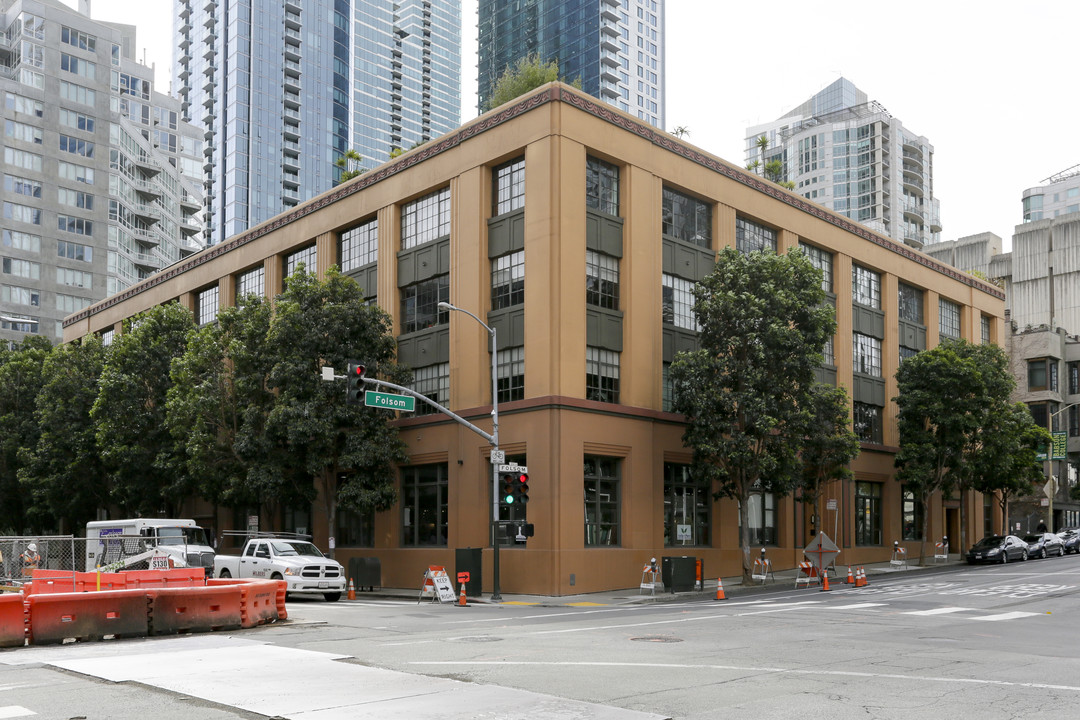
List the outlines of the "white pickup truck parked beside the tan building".
{"type": "Polygon", "coordinates": [[[329,602],[341,597],[347,582],[340,562],[294,538],[252,538],[240,556],[214,558],[214,576],[284,580],[287,593],[320,593],[329,602]]]}

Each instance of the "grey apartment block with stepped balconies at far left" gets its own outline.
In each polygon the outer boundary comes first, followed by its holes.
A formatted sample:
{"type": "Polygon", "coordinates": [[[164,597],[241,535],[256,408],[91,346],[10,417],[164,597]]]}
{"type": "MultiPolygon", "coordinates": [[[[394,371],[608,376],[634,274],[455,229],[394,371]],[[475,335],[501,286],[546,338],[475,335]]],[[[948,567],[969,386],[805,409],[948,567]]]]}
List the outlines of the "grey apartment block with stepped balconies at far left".
{"type": "Polygon", "coordinates": [[[134,47],[130,25],[0,1],[0,341],[59,340],[66,315],[202,247],[201,135],[134,47]]]}

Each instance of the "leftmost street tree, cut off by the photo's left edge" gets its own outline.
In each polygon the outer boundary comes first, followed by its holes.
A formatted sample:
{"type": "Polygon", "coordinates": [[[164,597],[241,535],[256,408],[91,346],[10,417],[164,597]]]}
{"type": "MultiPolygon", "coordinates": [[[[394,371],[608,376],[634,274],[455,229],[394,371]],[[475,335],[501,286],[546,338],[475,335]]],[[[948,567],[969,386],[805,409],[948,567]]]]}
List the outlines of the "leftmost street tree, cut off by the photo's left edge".
{"type": "Polygon", "coordinates": [[[29,489],[18,481],[18,473],[25,462],[19,450],[38,443],[35,409],[42,367],[51,352],[52,344],[41,336],[28,336],[14,349],[0,343],[0,528],[22,531],[43,527],[43,518],[28,515],[33,501],[29,489]]]}

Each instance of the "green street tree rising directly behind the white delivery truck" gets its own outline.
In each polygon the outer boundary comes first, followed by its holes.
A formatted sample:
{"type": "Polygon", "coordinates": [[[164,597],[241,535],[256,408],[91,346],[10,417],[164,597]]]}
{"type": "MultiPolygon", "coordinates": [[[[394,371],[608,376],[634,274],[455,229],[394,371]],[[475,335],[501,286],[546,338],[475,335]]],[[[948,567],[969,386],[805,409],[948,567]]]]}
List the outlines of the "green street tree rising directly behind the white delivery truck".
{"type": "Polygon", "coordinates": [[[193,325],[186,308],[157,305],[125,321],[109,347],[91,418],[110,500],[124,514],[173,515],[192,489],[165,407],[172,363],[193,325]]]}

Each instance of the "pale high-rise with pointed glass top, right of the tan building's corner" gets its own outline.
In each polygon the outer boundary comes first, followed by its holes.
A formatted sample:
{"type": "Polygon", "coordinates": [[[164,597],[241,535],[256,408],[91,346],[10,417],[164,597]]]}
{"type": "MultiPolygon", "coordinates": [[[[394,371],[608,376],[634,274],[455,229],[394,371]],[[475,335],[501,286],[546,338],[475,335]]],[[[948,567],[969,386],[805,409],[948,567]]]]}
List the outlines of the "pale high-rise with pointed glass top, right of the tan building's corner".
{"type": "Polygon", "coordinates": [[[761,172],[773,160],[781,179],[808,200],[910,247],[941,239],[933,146],[846,78],[747,128],[747,164],[761,172]]]}

